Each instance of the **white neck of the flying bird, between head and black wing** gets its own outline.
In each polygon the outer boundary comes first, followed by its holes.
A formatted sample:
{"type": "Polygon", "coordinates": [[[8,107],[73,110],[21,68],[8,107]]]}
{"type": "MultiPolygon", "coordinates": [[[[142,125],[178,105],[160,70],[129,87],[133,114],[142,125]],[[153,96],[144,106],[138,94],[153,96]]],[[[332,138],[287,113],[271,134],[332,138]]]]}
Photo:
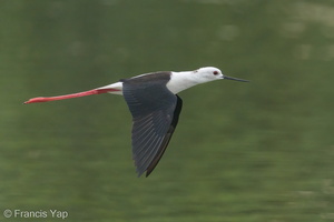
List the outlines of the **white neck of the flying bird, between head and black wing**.
{"type": "Polygon", "coordinates": [[[193,71],[187,72],[171,72],[170,80],[167,83],[168,90],[174,94],[184,91],[190,87],[199,84],[198,80],[195,78],[193,71]]]}

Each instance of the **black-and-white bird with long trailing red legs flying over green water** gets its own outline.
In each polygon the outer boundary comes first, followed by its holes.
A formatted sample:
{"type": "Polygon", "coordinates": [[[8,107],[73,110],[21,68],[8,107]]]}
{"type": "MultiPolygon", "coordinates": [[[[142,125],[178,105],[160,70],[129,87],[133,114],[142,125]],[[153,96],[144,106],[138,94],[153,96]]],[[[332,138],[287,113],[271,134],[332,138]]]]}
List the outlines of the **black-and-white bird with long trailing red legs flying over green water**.
{"type": "Polygon", "coordinates": [[[138,176],[148,176],[161,159],[178,123],[183,100],[178,92],[215,80],[248,80],[226,77],[214,67],[194,71],[158,71],[145,73],[94,90],[58,95],[32,98],[24,102],[49,102],[90,94],[112,93],[124,95],[132,115],[132,159],[138,176]]]}

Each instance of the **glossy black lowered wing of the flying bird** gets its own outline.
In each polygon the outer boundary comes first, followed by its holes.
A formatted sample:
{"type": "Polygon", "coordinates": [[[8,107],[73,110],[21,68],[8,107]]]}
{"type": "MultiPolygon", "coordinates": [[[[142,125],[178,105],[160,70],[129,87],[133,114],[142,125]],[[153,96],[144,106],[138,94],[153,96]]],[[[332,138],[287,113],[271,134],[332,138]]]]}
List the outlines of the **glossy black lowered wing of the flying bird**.
{"type": "Polygon", "coordinates": [[[167,89],[168,80],[122,81],[124,98],[132,114],[132,159],[138,176],[145,171],[148,176],[163,157],[177,125],[181,99],[167,89]]]}

